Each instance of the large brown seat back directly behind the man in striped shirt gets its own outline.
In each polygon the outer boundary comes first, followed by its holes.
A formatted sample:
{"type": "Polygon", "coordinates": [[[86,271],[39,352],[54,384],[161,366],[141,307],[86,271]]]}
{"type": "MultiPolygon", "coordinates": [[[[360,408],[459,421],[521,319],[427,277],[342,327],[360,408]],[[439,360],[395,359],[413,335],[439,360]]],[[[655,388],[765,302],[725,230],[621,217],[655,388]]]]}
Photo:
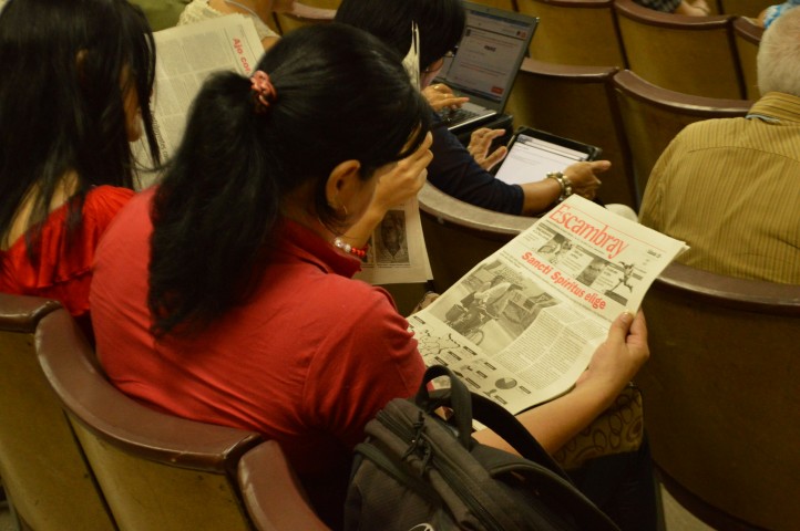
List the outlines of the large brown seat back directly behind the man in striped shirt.
{"type": "Polygon", "coordinates": [[[715,529],[745,529],[725,516],[797,529],[800,285],[673,263],[643,308],[652,355],[637,383],[656,465],[683,499],[716,509],[715,529]]]}

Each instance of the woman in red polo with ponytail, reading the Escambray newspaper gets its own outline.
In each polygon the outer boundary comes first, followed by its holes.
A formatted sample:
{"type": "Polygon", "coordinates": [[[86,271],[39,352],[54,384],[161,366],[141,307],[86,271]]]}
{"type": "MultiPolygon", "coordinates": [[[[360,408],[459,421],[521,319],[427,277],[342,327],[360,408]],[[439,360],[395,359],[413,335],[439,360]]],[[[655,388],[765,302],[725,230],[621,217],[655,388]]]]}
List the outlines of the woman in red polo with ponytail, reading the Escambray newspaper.
{"type": "MultiPolygon", "coordinates": [[[[252,79],[205,82],[162,184],[98,248],[92,321],[114,384],[155,409],[277,440],[334,527],[365,425],[424,372],[390,296],[350,279],[360,262],[340,238],[379,181],[424,178],[430,116],[376,38],[337,23],[295,30],[252,79]]],[[[644,321],[619,319],[577,388],[522,420],[557,448],[646,357],[644,321]]]]}

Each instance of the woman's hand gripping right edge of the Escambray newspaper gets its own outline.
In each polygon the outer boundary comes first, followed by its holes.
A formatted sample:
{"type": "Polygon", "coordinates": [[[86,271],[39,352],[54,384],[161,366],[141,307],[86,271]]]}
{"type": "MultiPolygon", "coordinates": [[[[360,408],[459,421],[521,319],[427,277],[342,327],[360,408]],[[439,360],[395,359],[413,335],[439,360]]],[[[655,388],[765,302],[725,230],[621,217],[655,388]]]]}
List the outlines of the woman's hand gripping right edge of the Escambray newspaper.
{"type": "Polygon", "coordinates": [[[650,355],[647,324],[640,311],[619,315],[608,330],[606,341],[595,351],[576,387],[596,386],[613,398],[633,379],[650,355]]]}

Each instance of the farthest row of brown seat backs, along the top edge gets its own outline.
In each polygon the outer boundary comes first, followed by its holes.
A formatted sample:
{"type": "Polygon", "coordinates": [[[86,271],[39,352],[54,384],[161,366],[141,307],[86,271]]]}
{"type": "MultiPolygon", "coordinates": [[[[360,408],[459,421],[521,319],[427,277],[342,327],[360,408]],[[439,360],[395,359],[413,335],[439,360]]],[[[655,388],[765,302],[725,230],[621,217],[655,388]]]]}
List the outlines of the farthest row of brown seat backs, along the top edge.
{"type": "MultiPolygon", "coordinates": [[[[286,32],[325,20],[340,0],[304,0],[296,13],[276,13],[286,32]],[[307,14],[302,14],[307,11],[307,14]],[[316,14],[315,14],[316,13],[316,14]]],[[[750,17],[771,0],[719,0],[722,14],[685,17],[644,8],[634,0],[479,0],[539,17],[530,56],[556,64],[617,66],[676,92],[755,98],[755,52],[763,29],[750,17]]]]}

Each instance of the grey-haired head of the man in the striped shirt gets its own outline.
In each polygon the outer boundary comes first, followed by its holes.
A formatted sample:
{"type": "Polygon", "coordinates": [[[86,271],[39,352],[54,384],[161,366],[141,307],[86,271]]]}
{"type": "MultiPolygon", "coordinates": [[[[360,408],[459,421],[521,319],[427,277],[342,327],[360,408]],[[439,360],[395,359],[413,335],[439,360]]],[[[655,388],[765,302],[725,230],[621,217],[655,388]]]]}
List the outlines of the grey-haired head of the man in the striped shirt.
{"type": "Polygon", "coordinates": [[[757,56],[758,90],[800,97],[800,9],[778,17],[763,32],[757,56]]]}

